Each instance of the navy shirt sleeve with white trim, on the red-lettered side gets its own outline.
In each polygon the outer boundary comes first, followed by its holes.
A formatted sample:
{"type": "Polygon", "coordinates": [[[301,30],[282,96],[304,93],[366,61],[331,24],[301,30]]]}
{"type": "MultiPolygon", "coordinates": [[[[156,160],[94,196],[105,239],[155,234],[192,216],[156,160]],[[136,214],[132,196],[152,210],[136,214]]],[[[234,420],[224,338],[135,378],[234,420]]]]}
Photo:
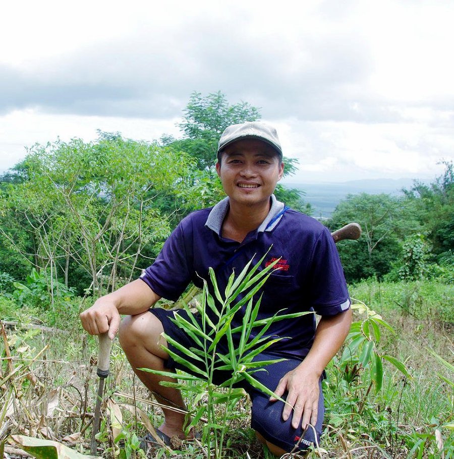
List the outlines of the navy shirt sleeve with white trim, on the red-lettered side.
{"type": "Polygon", "coordinates": [[[350,308],[341,259],[328,228],[314,245],[310,279],[311,303],[317,314],[330,316],[350,308]]]}

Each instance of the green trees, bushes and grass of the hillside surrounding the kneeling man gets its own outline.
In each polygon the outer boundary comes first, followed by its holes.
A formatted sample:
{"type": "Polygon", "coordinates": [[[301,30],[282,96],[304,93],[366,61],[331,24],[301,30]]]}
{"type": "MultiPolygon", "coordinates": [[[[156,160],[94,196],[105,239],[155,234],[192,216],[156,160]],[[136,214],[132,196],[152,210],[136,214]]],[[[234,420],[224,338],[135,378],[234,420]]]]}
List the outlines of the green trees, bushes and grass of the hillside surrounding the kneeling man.
{"type": "MultiPolygon", "coordinates": [[[[80,312],[137,278],[181,218],[222,198],[217,138],[260,118],[221,93],[194,93],[184,114],[182,139],[100,132],[94,142],[35,145],[0,178],[0,456],[28,448],[32,440],[17,435],[88,454],[97,340],[80,312]]],[[[292,174],[295,161],[286,164],[292,174]]],[[[349,195],[326,222],[334,230],[357,221],[363,235],[338,244],[355,323],[327,368],[324,436],[310,457],[454,457],[454,171],[444,166],[401,197],[349,195]]],[[[279,186],[276,195],[311,212],[299,190],[279,186]]],[[[202,307],[204,298],[189,288],[179,303],[160,305],[202,307]]],[[[160,410],[117,342],[110,367],[98,453],[142,457],[138,437],[160,423],[160,410]]],[[[153,457],[270,457],[249,428],[243,394],[217,395],[213,408],[212,389],[198,387],[189,381],[185,393],[203,440],[153,457]]]]}

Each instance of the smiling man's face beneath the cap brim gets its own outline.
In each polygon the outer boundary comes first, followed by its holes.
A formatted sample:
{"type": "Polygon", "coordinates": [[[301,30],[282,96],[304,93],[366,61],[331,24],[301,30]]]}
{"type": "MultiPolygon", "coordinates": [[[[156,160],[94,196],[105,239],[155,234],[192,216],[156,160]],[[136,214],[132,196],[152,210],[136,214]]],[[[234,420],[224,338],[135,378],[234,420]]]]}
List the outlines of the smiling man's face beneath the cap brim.
{"type": "Polygon", "coordinates": [[[269,202],[282,177],[283,162],[267,143],[244,139],[225,147],[216,171],[232,204],[253,206],[269,202]]]}

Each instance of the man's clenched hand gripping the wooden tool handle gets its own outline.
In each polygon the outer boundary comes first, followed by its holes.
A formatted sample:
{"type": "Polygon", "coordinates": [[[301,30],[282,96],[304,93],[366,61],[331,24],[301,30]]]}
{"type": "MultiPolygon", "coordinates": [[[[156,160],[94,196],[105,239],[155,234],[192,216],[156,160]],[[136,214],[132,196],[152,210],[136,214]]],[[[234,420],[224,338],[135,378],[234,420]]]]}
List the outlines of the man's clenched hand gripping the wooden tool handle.
{"type": "Polygon", "coordinates": [[[110,339],[115,338],[120,327],[120,313],[108,297],[101,297],[80,315],[82,326],[91,335],[108,331],[110,339]]]}

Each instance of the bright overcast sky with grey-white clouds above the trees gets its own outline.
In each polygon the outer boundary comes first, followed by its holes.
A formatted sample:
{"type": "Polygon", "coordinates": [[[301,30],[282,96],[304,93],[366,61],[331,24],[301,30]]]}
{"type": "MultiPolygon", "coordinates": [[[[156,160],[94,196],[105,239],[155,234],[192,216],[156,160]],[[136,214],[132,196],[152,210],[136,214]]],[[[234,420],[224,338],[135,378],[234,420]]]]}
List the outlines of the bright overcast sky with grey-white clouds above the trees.
{"type": "Polygon", "coordinates": [[[454,2],[8,2],[0,171],[96,130],[181,136],[193,91],[260,107],[292,182],[433,179],[454,158],[454,2]]]}

